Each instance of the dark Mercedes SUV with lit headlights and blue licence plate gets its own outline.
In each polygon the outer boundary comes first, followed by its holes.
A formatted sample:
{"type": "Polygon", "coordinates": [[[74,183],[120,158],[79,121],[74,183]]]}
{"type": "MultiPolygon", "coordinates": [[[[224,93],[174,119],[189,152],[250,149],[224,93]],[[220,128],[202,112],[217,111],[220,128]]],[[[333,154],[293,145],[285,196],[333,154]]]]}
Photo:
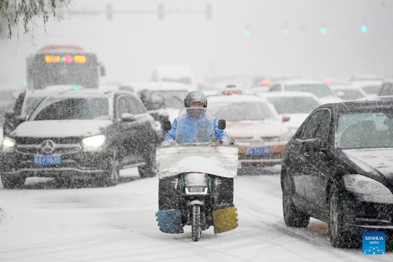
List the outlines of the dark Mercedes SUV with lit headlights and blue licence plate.
{"type": "Polygon", "coordinates": [[[119,169],[138,166],[155,176],[156,122],[140,99],[125,90],[84,89],[45,98],[4,136],[0,175],[5,188],[27,177],[93,177],[116,184],[119,169]]]}

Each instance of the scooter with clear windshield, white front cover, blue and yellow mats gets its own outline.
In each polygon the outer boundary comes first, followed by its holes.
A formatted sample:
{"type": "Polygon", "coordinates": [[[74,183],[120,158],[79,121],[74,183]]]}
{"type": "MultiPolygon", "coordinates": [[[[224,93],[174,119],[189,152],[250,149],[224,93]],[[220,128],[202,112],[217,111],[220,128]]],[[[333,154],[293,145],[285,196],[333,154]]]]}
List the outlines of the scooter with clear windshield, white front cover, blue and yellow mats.
{"type": "MultiPolygon", "coordinates": [[[[237,145],[221,145],[214,133],[212,112],[207,108],[184,108],[179,112],[173,146],[157,147],[160,231],[184,233],[191,225],[192,239],[214,227],[214,234],[238,226],[233,205],[233,179],[237,175],[237,145]],[[191,121],[196,120],[190,125],[191,121]]],[[[225,129],[225,120],[218,123],[225,129]]],[[[166,131],[171,126],[164,125],[166,131]]]]}

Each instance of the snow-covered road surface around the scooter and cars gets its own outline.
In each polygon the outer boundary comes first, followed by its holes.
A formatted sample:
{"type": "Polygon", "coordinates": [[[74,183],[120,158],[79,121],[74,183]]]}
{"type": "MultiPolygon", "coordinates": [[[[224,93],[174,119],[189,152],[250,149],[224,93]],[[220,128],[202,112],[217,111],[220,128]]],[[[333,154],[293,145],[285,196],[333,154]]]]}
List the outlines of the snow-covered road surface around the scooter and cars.
{"type": "Polygon", "coordinates": [[[333,248],[327,224],[318,220],[287,228],[279,171],[238,176],[239,227],[218,235],[210,228],[198,242],[187,226],[180,235],[159,231],[158,178],[141,180],[136,169],[122,170],[114,187],[55,188],[37,178],[19,190],[0,187],[0,261],[393,261],[392,252],[333,248]]]}

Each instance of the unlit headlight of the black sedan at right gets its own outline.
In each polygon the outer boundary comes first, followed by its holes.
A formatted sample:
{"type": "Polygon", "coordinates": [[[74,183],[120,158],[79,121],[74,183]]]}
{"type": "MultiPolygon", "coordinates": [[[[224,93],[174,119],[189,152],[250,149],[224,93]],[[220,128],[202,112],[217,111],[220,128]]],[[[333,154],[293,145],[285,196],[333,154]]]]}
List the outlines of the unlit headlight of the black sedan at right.
{"type": "Polygon", "coordinates": [[[365,202],[393,203],[392,192],[382,183],[371,178],[358,175],[344,175],[345,188],[358,193],[365,202]]]}

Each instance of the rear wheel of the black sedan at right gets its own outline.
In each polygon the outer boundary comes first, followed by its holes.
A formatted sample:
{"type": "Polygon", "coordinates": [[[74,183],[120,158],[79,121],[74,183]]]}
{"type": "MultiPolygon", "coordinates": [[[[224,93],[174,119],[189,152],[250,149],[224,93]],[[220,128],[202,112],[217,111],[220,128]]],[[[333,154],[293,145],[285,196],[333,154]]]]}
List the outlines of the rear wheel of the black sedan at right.
{"type": "Polygon", "coordinates": [[[282,211],[288,227],[305,228],[309,225],[310,216],[298,210],[293,204],[289,191],[289,179],[286,176],[282,183],[282,211]]]}

